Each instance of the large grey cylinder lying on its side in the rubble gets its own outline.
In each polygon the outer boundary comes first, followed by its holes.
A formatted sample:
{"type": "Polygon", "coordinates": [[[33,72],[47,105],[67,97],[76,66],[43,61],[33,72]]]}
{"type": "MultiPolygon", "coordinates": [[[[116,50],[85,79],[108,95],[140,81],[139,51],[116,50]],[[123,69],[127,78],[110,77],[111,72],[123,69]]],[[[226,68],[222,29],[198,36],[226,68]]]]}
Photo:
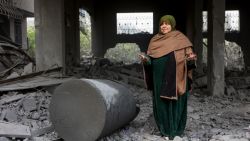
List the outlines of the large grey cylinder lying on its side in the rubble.
{"type": "Polygon", "coordinates": [[[75,79],[58,86],[50,119],[66,141],[95,141],[129,123],[137,115],[128,88],[99,79],[75,79]]]}

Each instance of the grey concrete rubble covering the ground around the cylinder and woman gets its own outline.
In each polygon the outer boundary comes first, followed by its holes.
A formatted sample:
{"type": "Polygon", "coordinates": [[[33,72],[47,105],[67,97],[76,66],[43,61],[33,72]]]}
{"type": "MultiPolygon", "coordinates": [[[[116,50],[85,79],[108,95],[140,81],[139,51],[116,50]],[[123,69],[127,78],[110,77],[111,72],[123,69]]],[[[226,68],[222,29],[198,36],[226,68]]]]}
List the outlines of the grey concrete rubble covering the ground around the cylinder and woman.
{"type": "MultiPolygon", "coordinates": [[[[81,68],[72,69],[79,78],[116,80],[127,87],[140,107],[139,115],[130,124],[98,141],[164,141],[156,128],[152,111],[152,93],[144,88],[140,64],[112,64],[107,60],[85,60],[81,68]],[[86,65],[89,64],[89,65],[86,65]]],[[[249,141],[250,140],[250,78],[229,75],[226,94],[208,96],[206,78],[199,76],[189,96],[188,121],[185,134],[174,141],[249,141]]],[[[49,119],[51,94],[46,89],[4,91],[0,95],[0,121],[29,128],[30,135],[20,132],[2,133],[0,141],[60,140],[49,119]]],[[[0,123],[2,123],[0,122],[0,123]]],[[[6,125],[6,126],[7,126],[6,125]]],[[[23,130],[22,130],[23,131],[23,130]]]]}

